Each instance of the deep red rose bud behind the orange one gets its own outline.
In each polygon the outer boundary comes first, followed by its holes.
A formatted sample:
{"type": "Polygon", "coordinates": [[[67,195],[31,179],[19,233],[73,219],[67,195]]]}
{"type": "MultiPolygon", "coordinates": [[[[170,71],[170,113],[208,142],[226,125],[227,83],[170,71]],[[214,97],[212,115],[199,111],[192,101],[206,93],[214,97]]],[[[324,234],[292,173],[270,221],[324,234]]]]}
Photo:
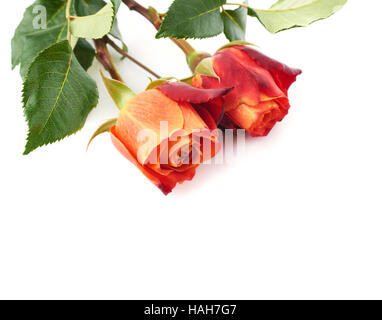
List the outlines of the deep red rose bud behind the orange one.
{"type": "Polygon", "coordinates": [[[239,127],[251,136],[266,136],[290,108],[288,89],[301,70],[291,69],[248,46],[235,45],[205,59],[196,69],[197,88],[234,87],[221,101],[205,107],[221,126],[239,127]],[[199,70],[212,70],[198,73],[199,70]],[[209,74],[209,75],[205,75],[209,74]]]}

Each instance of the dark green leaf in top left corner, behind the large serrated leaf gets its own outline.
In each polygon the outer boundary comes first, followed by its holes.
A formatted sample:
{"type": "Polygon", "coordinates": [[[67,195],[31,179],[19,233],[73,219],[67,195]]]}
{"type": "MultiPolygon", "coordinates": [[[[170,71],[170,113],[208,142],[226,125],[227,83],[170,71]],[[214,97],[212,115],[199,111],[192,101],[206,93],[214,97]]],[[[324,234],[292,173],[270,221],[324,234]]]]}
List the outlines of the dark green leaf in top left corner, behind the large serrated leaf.
{"type": "Polygon", "coordinates": [[[12,67],[20,64],[20,73],[23,78],[37,54],[66,38],[67,20],[65,16],[66,2],[62,0],[37,0],[28,7],[24,18],[16,29],[12,39],[12,67]],[[46,8],[46,29],[35,29],[33,22],[37,6],[46,8]]]}

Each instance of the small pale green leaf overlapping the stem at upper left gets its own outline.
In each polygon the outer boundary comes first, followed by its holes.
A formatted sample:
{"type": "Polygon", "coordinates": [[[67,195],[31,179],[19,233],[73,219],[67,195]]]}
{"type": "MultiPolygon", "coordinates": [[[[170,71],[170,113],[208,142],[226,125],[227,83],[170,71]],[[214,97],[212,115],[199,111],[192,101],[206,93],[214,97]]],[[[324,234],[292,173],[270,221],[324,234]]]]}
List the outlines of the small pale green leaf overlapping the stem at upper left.
{"type": "Polygon", "coordinates": [[[70,17],[70,32],[78,38],[99,39],[110,32],[113,20],[113,4],[108,3],[95,14],[70,17]]]}

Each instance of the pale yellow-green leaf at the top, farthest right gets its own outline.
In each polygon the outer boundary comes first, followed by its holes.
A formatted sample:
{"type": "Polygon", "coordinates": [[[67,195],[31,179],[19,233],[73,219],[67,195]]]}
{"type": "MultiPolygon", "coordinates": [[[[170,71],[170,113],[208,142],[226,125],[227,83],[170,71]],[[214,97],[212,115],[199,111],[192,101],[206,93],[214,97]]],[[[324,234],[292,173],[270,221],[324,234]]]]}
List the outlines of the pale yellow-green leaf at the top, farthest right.
{"type": "Polygon", "coordinates": [[[280,0],[270,9],[251,9],[248,14],[255,16],[265,28],[276,33],[294,27],[328,18],[340,10],[347,0],[280,0]]]}

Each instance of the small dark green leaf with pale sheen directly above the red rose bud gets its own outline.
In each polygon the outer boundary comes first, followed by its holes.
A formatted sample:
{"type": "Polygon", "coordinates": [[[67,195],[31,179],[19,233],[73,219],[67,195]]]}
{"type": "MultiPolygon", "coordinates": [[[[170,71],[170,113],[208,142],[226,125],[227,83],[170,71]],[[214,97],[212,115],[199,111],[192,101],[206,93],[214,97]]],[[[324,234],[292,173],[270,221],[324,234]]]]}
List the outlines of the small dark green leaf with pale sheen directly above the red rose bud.
{"type": "Polygon", "coordinates": [[[223,10],[224,34],[229,41],[245,40],[248,9],[223,10]]]}

